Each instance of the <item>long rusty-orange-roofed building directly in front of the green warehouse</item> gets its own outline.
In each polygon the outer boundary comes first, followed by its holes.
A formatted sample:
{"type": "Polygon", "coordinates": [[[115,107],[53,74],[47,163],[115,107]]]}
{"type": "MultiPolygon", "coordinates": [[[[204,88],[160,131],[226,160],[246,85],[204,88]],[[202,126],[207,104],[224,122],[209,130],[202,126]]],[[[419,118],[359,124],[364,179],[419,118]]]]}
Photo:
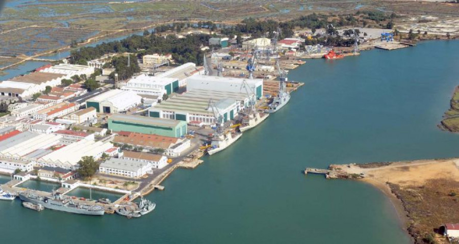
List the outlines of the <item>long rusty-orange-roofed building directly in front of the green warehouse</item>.
{"type": "Polygon", "coordinates": [[[180,156],[191,147],[187,138],[163,137],[157,134],[142,134],[127,131],[119,132],[113,139],[114,143],[142,147],[147,150],[163,149],[164,154],[172,157],[180,156]]]}

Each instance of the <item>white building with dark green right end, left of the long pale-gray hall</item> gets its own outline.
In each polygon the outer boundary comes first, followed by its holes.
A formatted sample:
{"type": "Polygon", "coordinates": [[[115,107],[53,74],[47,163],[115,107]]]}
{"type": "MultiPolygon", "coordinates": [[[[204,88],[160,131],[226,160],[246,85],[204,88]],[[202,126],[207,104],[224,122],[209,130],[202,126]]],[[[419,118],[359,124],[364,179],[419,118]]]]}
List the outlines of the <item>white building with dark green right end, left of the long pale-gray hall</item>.
{"type": "Polygon", "coordinates": [[[179,79],[141,74],[130,79],[121,90],[162,97],[179,90],[179,79]]]}

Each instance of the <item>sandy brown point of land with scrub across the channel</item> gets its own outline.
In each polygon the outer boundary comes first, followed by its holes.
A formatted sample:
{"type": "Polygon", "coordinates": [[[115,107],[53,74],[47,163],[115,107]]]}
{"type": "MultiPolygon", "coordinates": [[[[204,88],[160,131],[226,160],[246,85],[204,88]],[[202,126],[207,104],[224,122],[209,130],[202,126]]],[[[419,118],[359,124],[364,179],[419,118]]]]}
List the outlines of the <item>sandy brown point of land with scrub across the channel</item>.
{"type": "Polygon", "coordinates": [[[415,243],[448,243],[440,227],[459,223],[459,158],[345,165],[350,174],[378,187],[415,243]]]}

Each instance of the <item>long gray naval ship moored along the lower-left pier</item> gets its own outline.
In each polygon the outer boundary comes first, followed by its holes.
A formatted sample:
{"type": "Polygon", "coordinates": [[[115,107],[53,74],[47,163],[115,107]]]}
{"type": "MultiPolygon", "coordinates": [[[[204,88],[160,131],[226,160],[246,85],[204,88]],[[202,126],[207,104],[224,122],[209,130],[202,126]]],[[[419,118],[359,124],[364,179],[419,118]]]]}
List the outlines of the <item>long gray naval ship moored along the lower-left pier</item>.
{"type": "Polygon", "coordinates": [[[41,197],[31,192],[19,193],[19,199],[24,202],[40,204],[45,208],[63,212],[71,212],[86,215],[104,215],[105,209],[98,205],[86,205],[75,203],[71,198],[63,198],[62,195],[53,192],[48,197],[41,197]]]}

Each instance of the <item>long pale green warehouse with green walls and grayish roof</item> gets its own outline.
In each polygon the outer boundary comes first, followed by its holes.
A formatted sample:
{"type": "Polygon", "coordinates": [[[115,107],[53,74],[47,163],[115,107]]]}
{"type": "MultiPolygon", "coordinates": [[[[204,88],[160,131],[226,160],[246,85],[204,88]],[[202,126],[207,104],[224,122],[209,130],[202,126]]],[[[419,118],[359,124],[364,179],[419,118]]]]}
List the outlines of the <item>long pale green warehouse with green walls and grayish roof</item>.
{"type": "Polygon", "coordinates": [[[164,137],[182,137],[187,133],[185,121],[151,118],[137,115],[114,114],[110,116],[109,129],[144,134],[158,134],[164,137]]]}

